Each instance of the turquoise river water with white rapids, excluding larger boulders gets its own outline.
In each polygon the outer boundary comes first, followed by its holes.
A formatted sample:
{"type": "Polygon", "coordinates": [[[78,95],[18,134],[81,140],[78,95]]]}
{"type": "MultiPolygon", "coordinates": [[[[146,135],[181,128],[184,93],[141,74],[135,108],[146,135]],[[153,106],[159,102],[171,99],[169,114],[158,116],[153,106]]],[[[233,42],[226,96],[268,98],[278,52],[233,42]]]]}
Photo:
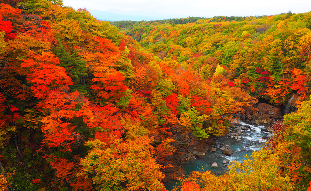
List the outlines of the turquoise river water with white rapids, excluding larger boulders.
{"type": "MultiPolygon", "coordinates": [[[[183,165],[183,171],[185,175],[190,174],[192,171],[212,171],[216,175],[223,175],[225,172],[229,171],[227,166],[223,166],[223,160],[229,161],[239,161],[242,162],[246,158],[245,155],[250,156],[253,151],[261,149],[261,146],[266,142],[266,139],[262,139],[263,136],[267,136],[267,134],[262,129],[264,126],[254,126],[244,122],[240,122],[241,127],[247,127],[248,130],[241,130],[241,141],[237,141],[231,136],[225,135],[220,136],[216,139],[216,148],[215,152],[207,152],[206,155],[202,156],[202,158],[194,159],[193,161],[188,162],[183,165]],[[222,153],[221,147],[227,147],[228,145],[231,150],[231,156],[225,156],[222,153]],[[218,164],[218,167],[211,167],[213,162],[218,164]]],[[[232,132],[235,128],[231,128],[232,132]]],[[[166,189],[171,190],[176,182],[172,181],[166,185],[166,189]]]]}

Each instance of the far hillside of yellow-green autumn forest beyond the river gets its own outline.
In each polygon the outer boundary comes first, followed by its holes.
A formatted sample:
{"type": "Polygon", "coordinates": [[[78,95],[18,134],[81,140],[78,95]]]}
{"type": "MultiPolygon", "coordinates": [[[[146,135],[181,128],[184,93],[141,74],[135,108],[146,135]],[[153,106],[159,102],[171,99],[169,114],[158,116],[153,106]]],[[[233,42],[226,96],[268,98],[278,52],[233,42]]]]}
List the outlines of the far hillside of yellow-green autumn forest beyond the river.
{"type": "Polygon", "coordinates": [[[203,80],[216,66],[234,85],[271,103],[310,88],[311,13],[113,22],[161,60],[177,60],[203,80]]]}

